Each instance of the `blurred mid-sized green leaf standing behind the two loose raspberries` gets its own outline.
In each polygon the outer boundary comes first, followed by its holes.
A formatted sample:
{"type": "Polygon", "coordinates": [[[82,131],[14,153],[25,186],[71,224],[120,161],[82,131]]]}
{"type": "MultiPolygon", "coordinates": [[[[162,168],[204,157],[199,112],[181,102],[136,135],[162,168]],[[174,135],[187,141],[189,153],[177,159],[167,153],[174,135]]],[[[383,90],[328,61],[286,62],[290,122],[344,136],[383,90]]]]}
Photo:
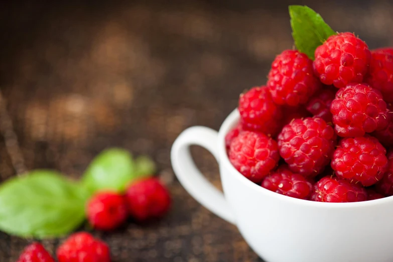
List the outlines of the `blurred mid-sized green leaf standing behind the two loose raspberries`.
{"type": "Polygon", "coordinates": [[[131,154],[123,149],[102,151],[83,174],[82,183],[91,193],[98,190],[122,192],[133,179],[135,170],[131,154]]]}

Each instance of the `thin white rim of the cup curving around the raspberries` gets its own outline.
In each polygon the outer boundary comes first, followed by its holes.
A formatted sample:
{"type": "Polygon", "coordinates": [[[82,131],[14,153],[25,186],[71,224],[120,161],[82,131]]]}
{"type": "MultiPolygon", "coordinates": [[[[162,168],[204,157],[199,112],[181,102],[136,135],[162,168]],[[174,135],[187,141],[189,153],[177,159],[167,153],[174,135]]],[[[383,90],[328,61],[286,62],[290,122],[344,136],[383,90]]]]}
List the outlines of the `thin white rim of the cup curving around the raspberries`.
{"type": "MultiPolygon", "coordinates": [[[[254,190],[259,192],[262,195],[266,195],[267,197],[277,198],[277,200],[290,202],[296,205],[310,206],[316,208],[364,208],[368,206],[378,206],[384,205],[390,202],[393,202],[393,196],[384,197],[375,200],[362,201],[362,202],[351,202],[351,203],[326,203],[326,202],[316,202],[304,199],[293,198],[289,196],[284,196],[278,194],[276,192],[270,191],[266,188],[263,188],[247,178],[245,178],[239,171],[237,171],[229,161],[228,155],[226,153],[225,146],[225,135],[229,132],[230,128],[234,127],[235,124],[239,121],[240,114],[237,108],[235,108],[224,120],[222,123],[219,132],[218,132],[218,157],[219,157],[219,165],[223,165],[226,170],[228,170],[228,175],[233,176],[239,183],[248,187],[250,190],[254,190]]],[[[393,203],[392,203],[393,206],[393,203]]]]}

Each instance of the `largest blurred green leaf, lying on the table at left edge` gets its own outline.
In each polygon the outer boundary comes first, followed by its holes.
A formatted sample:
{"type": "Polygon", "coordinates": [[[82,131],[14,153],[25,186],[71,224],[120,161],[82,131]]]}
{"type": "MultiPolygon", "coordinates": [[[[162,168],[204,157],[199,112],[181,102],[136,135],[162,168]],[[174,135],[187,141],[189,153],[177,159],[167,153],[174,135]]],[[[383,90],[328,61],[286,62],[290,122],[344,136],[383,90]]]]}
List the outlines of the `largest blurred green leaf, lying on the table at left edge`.
{"type": "Polygon", "coordinates": [[[50,170],[35,170],[0,186],[0,229],[21,237],[58,237],[85,219],[88,194],[50,170]]]}

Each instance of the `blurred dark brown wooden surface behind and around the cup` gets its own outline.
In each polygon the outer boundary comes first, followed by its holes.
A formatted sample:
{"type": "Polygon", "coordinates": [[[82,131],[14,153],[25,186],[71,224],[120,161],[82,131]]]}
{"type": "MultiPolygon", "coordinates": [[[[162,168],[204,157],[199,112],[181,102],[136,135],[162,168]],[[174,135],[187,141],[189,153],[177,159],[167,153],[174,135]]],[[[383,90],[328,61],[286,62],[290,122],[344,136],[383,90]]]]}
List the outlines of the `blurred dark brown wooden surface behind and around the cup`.
{"type": "MultiPolygon", "coordinates": [[[[218,129],[240,92],[265,84],[275,56],[293,47],[290,4],[371,49],[393,45],[391,1],[0,4],[0,181],[35,168],[77,178],[106,147],[147,154],[173,208],[157,223],[95,232],[113,261],[262,261],[185,192],[169,153],[183,129],[218,129]]],[[[220,187],[213,157],[193,155],[220,187]]],[[[54,252],[61,240],[43,243],[54,252]]],[[[0,232],[0,261],[14,262],[28,243],[0,232]]]]}

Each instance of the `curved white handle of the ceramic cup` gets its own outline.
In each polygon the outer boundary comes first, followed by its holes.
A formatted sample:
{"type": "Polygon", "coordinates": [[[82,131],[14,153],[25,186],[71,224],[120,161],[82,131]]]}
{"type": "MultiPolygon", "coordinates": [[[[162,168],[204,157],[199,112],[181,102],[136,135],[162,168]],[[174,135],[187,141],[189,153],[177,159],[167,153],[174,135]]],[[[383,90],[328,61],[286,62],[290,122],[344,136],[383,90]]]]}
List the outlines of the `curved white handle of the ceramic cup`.
{"type": "Polygon", "coordinates": [[[183,131],[171,150],[172,167],[180,184],[200,204],[222,219],[235,224],[235,218],[224,194],[215,188],[198,170],[190,154],[190,146],[207,149],[219,162],[218,133],[208,127],[193,126],[183,131]]]}

